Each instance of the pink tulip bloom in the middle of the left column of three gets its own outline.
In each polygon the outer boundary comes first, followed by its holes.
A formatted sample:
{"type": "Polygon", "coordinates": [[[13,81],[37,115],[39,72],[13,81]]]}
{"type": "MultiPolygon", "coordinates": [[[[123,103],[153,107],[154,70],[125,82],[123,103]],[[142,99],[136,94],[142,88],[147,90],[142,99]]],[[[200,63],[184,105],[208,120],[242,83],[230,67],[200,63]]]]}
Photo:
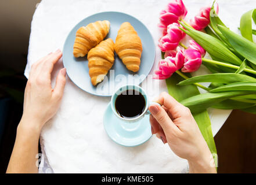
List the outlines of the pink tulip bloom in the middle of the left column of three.
{"type": "Polygon", "coordinates": [[[158,41],[158,47],[160,47],[161,51],[174,50],[179,45],[181,39],[186,35],[179,27],[181,25],[177,23],[168,25],[167,34],[158,41]]]}

